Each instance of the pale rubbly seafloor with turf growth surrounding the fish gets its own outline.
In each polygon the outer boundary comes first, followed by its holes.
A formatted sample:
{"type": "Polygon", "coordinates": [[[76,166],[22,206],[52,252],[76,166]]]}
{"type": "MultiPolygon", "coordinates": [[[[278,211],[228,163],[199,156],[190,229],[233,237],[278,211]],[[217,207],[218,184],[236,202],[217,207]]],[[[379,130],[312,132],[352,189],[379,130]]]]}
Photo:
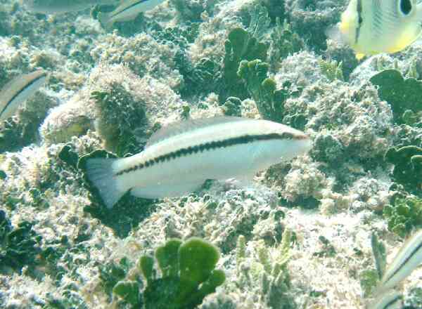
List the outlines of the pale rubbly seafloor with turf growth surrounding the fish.
{"type": "MultiPolygon", "coordinates": [[[[350,48],[324,34],[345,5],[169,0],[107,32],[89,9],[43,15],[0,0],[0,86],[36,68],[50,73],[1,129],[0,307],[108,308],[113,295],[101,269],[124,257],[134,267],[167,239],[196,236],[219,247],[218,268],[226,272],[226,282],[199,308],[364,308],[370,294],[362,282],[375,270],[371,233],[385,242],[388,261],[405,238],[383,216],[395,181],[385,152],[422,145],[422,129],[395,124],[392,108],[368,80],[380,67],[422,76],[422,45],[359,63],[350,48]],[[58,157],[60,150],[67,144],[79,156],[104,147],[139,152],[160,125],[223,114],[226,98],[238,95],[221,78],[224,41],[236,27],[254,32],[257,4],[269,11],[253,34],[269,44],[268,77],[277,88],[290,81],[290,92],[300,89],[286,99],[284,114],[300,115],[312,151],[241,185],[211,183],[180,199],[124,197],[105,209],[80,171],[58,157]],[[298,50],[280,52],[276,18],[301,40],[298,50]],[[343,61],[343,80],[323,74],[321,59],[343,61]],[[94,91],[110,99],[97,104],[94,91]],[[133,138],[122,141],[126,136],[133,138]],[[26,230],[13,244],[5,235],[18,226],[26,230]],[[286,228],[295,233],[285,270],[290,280],[276,282],[267,273],[272,281],[265,289],[262,277],[276,263],[286,228]],[[236,259],[239,235],[246,240],[243,259],[236,259]],[[11,246],[22,250],[13,261],[11,246]]],[[[260,118],[252,96],[239,96],[241,116],[260,118]]],[[[416,269],[398,288],[408,308],[422,308],[421,277],[416,269]]]]}

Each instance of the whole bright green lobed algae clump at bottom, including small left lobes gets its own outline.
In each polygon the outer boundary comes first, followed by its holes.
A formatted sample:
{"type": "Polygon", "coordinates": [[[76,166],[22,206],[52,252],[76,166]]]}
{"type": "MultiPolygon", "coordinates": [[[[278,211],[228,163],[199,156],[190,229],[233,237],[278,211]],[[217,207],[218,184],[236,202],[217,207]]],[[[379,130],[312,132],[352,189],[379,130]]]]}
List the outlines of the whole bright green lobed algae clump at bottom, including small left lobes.
{"type": "Polygon", "coordinates": [[[131,308],[193,309],[223,284],[224,272],[215,270],[218,260],[218,249],[203,239],[170,239],[155,250],[155,259],[141,256],[138,269],[146,280],[143,291],[138,281],[124,278],[126,271],[122,268],[111,276],[112,281],[108,280],[108,287],[115,283],[113,294],[131,308]],[[155,272],[155,261],[160,277],[155,272]],[[120,281],[115,282],[117,278],[120,281]]]}

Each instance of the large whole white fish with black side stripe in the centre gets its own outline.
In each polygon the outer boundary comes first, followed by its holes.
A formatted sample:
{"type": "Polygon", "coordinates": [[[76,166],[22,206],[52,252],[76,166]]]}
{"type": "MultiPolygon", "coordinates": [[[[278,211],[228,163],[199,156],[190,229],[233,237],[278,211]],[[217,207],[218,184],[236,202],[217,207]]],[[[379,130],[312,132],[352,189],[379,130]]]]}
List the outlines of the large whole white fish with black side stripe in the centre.
{"type": "Polygon", "coordinates": [[[87,177],[111,208],[125,192],[158,199],[198,190],[205,180],[252,178],[311,148],[305,133],[239,117],[183,121],[161,129],[145,150],[122,159],[88,159],[87,177]]]}

